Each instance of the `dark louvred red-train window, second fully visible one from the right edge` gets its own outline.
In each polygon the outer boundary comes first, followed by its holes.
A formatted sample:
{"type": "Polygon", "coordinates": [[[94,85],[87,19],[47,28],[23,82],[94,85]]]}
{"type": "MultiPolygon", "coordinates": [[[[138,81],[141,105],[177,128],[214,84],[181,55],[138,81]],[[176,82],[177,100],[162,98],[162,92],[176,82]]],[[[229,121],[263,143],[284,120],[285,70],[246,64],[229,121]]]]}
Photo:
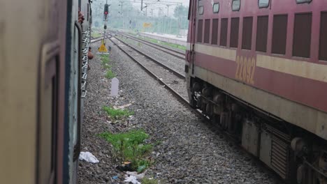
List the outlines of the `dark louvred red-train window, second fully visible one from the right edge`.
{"type": "Polygon", "coordinates": [[[287,33],[287,15],[275,15],[273,21],[273,54],[285,54],[287,33]]]}

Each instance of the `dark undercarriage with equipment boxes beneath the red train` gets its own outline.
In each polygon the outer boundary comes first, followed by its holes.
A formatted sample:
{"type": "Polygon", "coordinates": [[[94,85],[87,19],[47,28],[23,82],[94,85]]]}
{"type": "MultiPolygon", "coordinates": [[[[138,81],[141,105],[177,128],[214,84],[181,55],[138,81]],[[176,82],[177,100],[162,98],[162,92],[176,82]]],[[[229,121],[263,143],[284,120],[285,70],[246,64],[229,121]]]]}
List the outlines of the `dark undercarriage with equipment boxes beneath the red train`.
{"type": "Polygon", "coordinates": [[[202,79],[187,77],[187,82],[191,106],[201,109],[286,183],[327,184],[326,140],[202,79]]]}

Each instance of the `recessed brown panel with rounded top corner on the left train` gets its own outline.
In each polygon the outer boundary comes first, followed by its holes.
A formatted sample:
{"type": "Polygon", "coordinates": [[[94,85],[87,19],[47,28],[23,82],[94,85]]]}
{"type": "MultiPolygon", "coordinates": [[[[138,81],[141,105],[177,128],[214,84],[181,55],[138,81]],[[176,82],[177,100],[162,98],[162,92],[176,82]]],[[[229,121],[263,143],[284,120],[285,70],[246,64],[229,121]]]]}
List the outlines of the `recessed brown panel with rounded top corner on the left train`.
{"type": "Polygon", "coordinates": [[[44,45],[39,84],[38,183],[57,183],[59,44],[44,45]]]}

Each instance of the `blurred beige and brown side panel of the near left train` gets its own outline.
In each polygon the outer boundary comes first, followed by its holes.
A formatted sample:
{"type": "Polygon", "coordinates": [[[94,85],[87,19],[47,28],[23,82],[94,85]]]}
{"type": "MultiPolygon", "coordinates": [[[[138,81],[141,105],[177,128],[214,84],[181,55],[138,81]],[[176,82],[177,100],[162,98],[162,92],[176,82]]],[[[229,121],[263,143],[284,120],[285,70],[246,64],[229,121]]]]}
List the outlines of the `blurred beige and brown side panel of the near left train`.
{"type": "Polygon", "coordinates": [[[66,2],[0,7],[0,178],[61,183],[66,2]]]}

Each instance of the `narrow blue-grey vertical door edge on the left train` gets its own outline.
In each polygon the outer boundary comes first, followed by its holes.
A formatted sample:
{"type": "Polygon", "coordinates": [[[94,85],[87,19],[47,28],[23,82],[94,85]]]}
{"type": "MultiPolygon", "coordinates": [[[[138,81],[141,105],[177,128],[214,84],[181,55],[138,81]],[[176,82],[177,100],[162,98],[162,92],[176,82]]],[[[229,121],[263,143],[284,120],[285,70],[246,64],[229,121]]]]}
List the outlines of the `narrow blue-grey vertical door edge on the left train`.
{"type": "Polygon", "coordinates": [[[75,147],[78,144],[78,68],[79,48],[78,40],[79,33],[75,22],[78,20],[78,0],[68,2],[68,17],[67,17],[67,49],[66,49],[66,77],[67,86],[66,100],[66,137],[65,137],[65,183],[75,183],[77,181],[77,162],[74,160],[75,147]]]}

